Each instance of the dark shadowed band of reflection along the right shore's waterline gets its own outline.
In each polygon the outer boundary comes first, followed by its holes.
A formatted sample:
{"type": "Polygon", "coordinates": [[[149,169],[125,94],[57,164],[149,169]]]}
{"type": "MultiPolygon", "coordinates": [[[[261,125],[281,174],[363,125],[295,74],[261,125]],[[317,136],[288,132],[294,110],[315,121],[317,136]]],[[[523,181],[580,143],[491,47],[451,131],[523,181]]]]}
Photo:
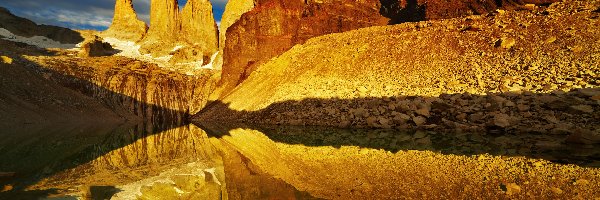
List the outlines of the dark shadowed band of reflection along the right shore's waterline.
{"type": "Polygon", "coordinates": [[[269,139],[286,144],[306,146],[359,146],[391,152],[430,150],[442,154],[525,156],[561,164],[600,167],[597,145],[575,145],[564,142],[562,135],[549,134],[478,134],[436,133],[395,129],[341,129],[318,126],[223,125],[203,123],[198,126],[220,137],[236,128],[254,129],[269,139]]]}

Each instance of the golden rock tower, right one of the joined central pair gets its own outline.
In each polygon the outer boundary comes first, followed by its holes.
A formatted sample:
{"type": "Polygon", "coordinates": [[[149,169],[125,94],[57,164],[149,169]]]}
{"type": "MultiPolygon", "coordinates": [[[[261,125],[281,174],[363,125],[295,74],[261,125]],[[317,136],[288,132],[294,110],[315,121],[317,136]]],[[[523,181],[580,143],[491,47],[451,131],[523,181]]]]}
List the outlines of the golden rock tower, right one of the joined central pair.
{"type": "Polygon", "coordinates": [[[199,48],[203,55],[218,50],[218,28],[209,0],[189,0],[181,11],[181,34],[184,41],[199,48]]]}

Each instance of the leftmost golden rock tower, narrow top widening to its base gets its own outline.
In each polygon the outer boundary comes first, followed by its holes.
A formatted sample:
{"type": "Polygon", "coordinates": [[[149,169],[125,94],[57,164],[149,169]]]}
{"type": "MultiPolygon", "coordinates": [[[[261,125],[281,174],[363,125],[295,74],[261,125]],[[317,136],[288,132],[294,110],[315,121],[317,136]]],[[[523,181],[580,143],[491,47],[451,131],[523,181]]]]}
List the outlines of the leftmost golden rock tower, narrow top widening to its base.
{"type": "Polygon", "coordinates": [[[117,0],[113,23],[102,33],[102,36],[138,41],[144,37],[147,29],[146,23],[137,18],[132,0],[117,0]]]}

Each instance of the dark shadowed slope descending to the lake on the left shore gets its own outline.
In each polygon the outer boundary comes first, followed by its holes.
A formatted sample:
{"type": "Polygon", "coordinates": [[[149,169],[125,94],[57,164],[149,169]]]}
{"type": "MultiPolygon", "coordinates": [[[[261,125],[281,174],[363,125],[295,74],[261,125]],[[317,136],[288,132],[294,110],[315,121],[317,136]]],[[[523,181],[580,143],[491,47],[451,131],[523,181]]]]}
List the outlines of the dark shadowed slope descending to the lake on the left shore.
{"type": "Polygon", "coordinates": [[[123,109],[112,109],[96,99],[49,79],[48,74],[22,55],[49,55],[38,48],[0,40],[0,127],[14,134],[23,126],[50,124],[119,124],[136,120],[123,109]]]}

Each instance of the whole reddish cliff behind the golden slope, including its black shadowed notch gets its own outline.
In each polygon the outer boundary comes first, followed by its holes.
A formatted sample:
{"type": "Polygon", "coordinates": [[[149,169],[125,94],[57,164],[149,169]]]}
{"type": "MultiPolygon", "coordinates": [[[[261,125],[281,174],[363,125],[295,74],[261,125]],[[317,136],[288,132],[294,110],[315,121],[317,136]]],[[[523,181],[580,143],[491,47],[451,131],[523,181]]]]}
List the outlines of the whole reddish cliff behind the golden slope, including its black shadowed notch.
{"type": "Polygon", "coordinates": [[[223,80],[217,93],[225,96],[258,66],[312,37],[370,26],[485,14],[500,7],[518,8],[523,3],[553,1],[257,1],[254,9],[227,29],[223,80]]]}

